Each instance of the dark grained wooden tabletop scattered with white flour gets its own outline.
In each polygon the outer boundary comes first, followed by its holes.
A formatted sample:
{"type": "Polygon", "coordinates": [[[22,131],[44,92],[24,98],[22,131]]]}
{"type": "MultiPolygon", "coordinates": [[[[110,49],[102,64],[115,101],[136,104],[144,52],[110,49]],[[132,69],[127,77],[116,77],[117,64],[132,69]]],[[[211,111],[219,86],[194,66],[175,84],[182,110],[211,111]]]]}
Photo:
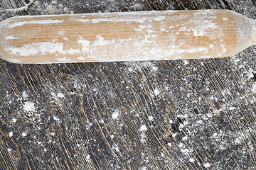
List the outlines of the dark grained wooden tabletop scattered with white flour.
{"type": "MultiPolygon", "coordinates": [[[[56,2],[1,18],[205,8],[256,18],[249,0],[56,2]]],[[[256,169],[255,50],[209,60],[1,60],[0,169],[256,169]]]]}

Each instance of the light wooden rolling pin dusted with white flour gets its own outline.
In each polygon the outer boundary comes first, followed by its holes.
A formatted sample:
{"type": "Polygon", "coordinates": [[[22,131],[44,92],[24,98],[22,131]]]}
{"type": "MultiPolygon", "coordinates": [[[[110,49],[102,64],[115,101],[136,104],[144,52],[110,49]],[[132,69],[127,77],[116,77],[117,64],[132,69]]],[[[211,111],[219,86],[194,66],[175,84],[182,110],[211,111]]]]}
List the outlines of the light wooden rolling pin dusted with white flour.
{"type": "Polygon", "coordinates": [[[228,57],[255,45],[255,21],[226,10],[17,16],[0,23],[15,63],[228,57]]]}

